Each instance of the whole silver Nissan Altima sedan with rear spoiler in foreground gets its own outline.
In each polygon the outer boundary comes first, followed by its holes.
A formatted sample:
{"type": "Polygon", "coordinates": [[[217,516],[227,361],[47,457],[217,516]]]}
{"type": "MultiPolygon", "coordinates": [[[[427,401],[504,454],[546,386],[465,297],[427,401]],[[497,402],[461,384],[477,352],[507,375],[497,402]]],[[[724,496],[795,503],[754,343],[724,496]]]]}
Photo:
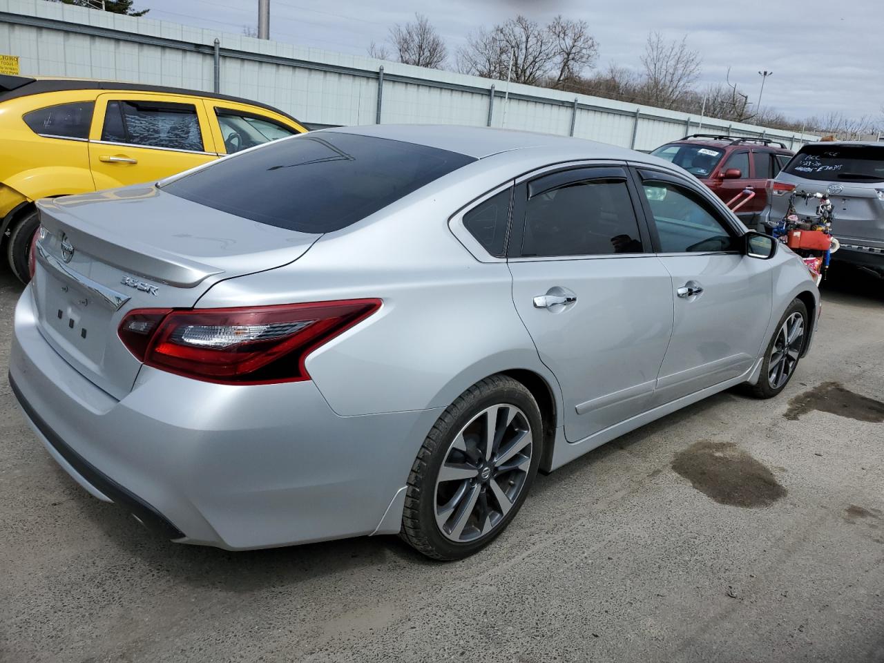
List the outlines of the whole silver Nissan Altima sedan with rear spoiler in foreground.
{"type": "Polygon", "coordinates": [[[55,460],[179,542],[487,545],[538,469],[734,385],[819,293],[681,169],[455,126],[304,134],[40,203],[10,381],[55,460]]]}

